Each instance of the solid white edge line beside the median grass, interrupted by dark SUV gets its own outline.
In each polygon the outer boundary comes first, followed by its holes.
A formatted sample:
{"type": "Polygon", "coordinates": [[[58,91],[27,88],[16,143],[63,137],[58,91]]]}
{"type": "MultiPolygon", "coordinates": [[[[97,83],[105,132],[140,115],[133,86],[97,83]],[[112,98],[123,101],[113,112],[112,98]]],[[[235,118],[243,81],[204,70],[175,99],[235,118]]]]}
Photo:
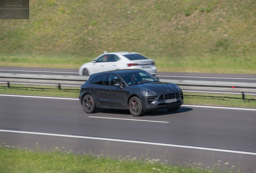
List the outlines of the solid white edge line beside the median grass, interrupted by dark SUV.
{"type": "MultiPolygon", "coordinates": [[[[63,97],[38,97],[38,96],[22,96],[22,95],[1,95],[8,97],[31,97],[31,98],[43,98],[43,99],[63,99],[63,100],[79,100],[73,98],[63,98],[63,97]]],[[[247,108],[230,108],[230,107],[213,107],[213,106],[196,106],[196,105],[182,105],[183,107],[202,107],[202,108],[216,108],[216,109],[236,109],[236,110],[246,110],[246,111],[256,111],[256,109],[247,108]]]]}

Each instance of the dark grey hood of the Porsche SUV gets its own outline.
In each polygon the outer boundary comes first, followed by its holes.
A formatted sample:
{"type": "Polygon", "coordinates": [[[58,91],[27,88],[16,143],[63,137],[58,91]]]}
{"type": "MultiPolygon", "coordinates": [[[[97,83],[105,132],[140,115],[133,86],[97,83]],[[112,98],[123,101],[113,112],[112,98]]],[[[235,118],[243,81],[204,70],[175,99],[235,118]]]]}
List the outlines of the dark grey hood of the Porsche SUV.
{"type": "Polygon", "coordinates": [[[136,87],[140,89],[148,89],[151,91],[154,91],[155,93],[162,95],[166,94],[166,91],[169,90],[170,93],[178,93],[180,90],[178,90],[173,83],[167,83],[167,82],[149,82],[145,84],[136,84],[132,85],[130,87],[136,87]]]}

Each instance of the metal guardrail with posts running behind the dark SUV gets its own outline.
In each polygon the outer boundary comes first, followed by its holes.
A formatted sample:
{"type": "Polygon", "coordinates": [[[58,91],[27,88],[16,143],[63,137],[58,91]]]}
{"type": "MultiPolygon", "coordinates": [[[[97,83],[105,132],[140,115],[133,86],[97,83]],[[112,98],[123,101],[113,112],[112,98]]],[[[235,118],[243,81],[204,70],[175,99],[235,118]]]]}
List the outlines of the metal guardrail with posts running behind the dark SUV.
{"type": "MultiPolygon", "coordinates": [[[[49,75],[49,74],[15,74],[0,73],[0,81],[9,82],[42,82],[59,84],[83,84],[89,76],[69,76],[69,75],[49,75]]],[[[222,81],[205,81],[205,80],[172,80],[160,79],[162,82],[171,82],[178,84],[181,89],[208,90],[208,91],[235,91],[255,92],[256,83],[252,82],[222,82],[222,81]]]]}

